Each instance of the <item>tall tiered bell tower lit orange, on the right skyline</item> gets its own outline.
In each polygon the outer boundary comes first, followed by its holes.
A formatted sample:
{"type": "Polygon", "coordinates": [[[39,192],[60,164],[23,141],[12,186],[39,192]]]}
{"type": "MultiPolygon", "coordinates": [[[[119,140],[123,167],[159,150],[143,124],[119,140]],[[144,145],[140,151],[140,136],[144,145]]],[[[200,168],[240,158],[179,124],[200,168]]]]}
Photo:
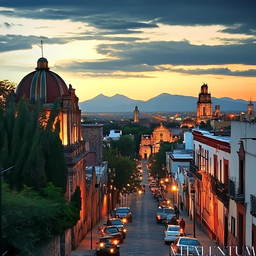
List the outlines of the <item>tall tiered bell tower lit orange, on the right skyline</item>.
{"type": "Polygon", "coordinates": [[[206,123],[209,119],[212,119],[211,93],[208,93],[208,85],[203,84],[198,95],[196,123],[200,124],[202,121],[206,123]]]}

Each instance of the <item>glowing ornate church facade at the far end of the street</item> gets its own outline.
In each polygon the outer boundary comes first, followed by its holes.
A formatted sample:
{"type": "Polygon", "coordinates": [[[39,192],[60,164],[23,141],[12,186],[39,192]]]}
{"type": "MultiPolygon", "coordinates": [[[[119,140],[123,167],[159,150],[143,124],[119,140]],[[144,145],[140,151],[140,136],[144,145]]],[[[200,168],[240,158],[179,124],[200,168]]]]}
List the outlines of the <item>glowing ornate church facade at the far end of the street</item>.
{"type": "Polygon", "coordinates": [[[159,151],[163,142],[173,142],[178,138],[173,138],[170,130],[162,123],[154,129],[152,135],[142,135],[140,143],[140,157],[141,159],[147,159],[152,154],[159,151]]]}

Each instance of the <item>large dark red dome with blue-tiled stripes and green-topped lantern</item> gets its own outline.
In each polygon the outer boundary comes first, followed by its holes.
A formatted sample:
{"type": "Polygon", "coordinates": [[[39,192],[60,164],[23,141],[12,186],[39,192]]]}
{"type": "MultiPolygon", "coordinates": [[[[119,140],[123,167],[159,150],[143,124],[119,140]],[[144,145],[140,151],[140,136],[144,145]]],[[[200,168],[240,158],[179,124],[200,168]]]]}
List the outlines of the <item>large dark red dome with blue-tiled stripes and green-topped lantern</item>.
{"type": "Polygon", "coordinates": [[[40,58],[36,71],[29,73],[20,81],[16,89],[17,100],[24,96],[32,103],[40,99],[41,104],[45,105],[52,104],[57,98],[68,94],[64,80],[49,69],[47,59],[40,58]]]}

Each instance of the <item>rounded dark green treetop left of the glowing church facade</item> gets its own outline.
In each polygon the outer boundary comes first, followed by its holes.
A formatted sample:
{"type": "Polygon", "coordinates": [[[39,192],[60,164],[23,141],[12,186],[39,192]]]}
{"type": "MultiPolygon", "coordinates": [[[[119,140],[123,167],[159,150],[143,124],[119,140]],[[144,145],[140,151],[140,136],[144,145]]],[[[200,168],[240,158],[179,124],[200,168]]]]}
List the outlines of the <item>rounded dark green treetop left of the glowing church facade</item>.
{"type": "Polygon", "coordinates": [[[135,141],[130,136],[120,136],[119,140],[111,140],[112,147],[117,148],[122,156],[133,157],[135,141]]]}

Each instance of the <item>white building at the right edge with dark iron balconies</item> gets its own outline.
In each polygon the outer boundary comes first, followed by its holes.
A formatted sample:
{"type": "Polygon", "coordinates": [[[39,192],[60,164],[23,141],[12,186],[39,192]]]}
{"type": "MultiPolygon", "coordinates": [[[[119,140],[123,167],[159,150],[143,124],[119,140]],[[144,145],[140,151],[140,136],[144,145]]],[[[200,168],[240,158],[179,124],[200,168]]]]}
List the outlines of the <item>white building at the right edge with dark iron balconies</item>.
{"type": "Polygon", "coordinates": [[[239,254],[242,246],[254,246],[256,251],[255,138],[254,122],[231,123],[228,238],[229,245],[238,246],[239,254]]]}

